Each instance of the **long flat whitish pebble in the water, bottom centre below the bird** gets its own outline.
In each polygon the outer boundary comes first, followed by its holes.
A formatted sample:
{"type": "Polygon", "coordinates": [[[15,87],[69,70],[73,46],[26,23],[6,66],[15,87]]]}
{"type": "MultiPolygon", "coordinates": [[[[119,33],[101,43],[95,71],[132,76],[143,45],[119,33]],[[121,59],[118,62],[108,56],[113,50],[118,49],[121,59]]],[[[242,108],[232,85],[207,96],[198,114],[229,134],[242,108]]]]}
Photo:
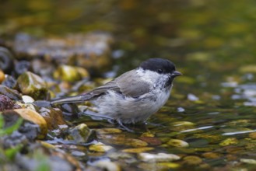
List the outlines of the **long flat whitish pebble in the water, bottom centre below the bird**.
{"type": "Polygon", "coordinates": [[[146,152],[139,153],[138,157],[143,162],[170,162],[170,161],[181,159],[181,157],[178,155],[166,154],[166,153],[150,154],[146,152]]]}

